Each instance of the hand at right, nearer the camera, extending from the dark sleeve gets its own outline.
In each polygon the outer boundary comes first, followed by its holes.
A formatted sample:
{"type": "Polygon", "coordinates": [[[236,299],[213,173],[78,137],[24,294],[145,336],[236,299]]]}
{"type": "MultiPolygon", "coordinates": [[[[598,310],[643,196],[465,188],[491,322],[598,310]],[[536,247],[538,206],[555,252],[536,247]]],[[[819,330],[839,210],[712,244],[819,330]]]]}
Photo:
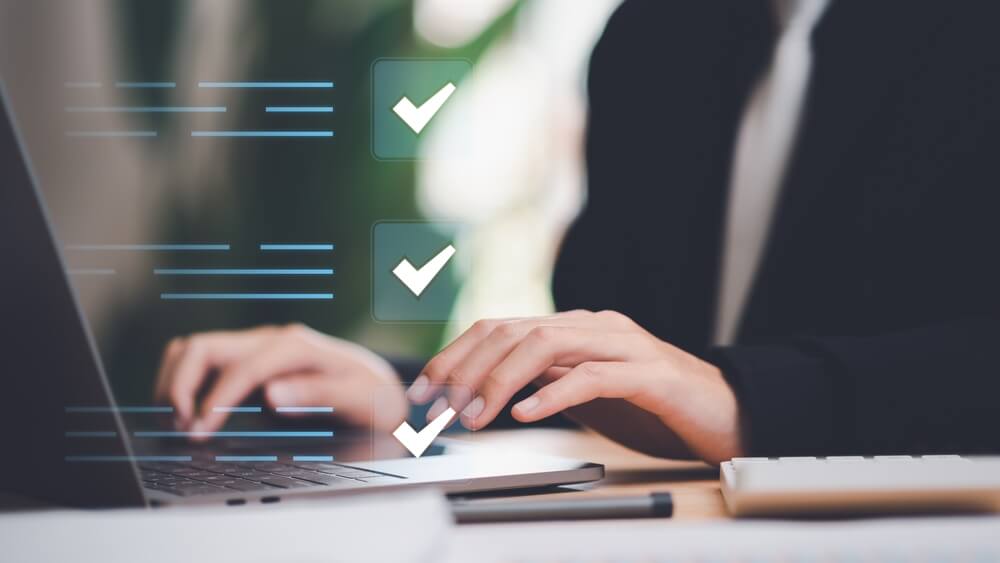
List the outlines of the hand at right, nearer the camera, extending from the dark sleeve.
{"type": "Polygon", "coordinates": [[[431,359],[407,395],[426,403],[447,386],[448,403],[475,430],[532,382],[541,389],[511,411],[521,422],[573,409],[649,453],[718,462],[743,452],[736,397],[721,371],[613,311],[479,321],[431,359]]]}

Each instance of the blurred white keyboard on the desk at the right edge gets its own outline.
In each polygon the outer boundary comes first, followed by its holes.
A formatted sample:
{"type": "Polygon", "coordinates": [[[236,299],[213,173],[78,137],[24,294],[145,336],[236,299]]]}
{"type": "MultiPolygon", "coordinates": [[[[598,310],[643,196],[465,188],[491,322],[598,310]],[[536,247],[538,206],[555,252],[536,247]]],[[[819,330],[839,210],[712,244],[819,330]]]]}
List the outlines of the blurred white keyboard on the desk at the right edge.
{"type": "Polygon", "coordinates": [[[734,516],[1000,511],[1000,457],[734,458],[722,494],[734,516]]]}

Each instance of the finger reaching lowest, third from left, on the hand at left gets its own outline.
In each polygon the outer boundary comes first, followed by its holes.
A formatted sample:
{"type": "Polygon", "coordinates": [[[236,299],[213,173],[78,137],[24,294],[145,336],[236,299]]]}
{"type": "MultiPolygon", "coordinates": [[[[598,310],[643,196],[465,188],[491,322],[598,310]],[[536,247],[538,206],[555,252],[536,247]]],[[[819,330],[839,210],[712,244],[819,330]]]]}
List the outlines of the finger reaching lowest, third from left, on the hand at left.
{"type": "Polygon", "coordinates": [[[192,431],[215,432],[225,423],[227,407],[239,405],[265,381],[281,375],[314,371],[308,344],[292,335],[272,338],[261,348],[227,365],[205,395],[192,431]]]}

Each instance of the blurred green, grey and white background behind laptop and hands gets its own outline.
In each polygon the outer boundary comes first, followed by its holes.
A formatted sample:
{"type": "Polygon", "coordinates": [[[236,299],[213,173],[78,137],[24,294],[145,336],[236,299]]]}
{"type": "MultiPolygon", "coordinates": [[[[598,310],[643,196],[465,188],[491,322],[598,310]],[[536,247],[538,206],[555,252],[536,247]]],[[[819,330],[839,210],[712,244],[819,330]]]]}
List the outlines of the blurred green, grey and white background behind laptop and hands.
{"type": "Polygon", "coordinates": [[[389,357],[421,359],[483,316],[551,309],[550,268],[584,193],[586,61],[619,0],[0,0],[0,73],[12,94],[120,401],[148,402],[164,345],[206,330],[302,322],[389,357]],[[473,63],[421,135],[425,157],[372,157],[370,70],[382,57],[473,63]],[[116,88],[116,81],[176,88],[116,88]],[[333,81],[333,90],[219,91],[199,81],[333,81]],[[75,88],[76,81],[99,82],[75,88]],[[78,114],[81,105],[222,105],[222,115],[78,114]],[[273,115],[268,104],[332,105],[273,115]],[[472,119],[475,117],[476,119],[472,119]],[[212,121],[212,120],[216,121],[212,121]],[[475,125],[473,125],[475,123],[475,125]],[[197,139],[197,129],[332,129],[333,139],[197,139]],[[79,128],[156,130],[81,142],[79,128]],[[478,143],[474,161],[441,158],[478,143]],[[377,323],[371,228],[456,221],[476,255],[445,324],[377,323]],[[78,252],[84,243],[229,243],[210,253],[78,252]],[[329,242],[268,255],[262,242],[329,242]],[[267,291],[275,280],[169,279],[155,267],[333,267],[282,290],[332,302],[169,302],[168,290],[267,291]],[[324,285],[325,284],[325,285],[324,285]],[[332,287],[330,287],[332,285],[332,287]]]}

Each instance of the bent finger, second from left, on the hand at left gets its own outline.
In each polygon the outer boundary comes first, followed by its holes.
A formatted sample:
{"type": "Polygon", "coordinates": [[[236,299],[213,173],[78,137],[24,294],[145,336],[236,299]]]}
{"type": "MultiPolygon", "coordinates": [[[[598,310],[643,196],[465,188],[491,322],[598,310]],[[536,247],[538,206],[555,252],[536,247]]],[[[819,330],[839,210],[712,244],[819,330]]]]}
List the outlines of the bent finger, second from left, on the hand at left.
{"type": "Polygon", "coordinates": [[[245,332],[210,332],[188,337],[173,370],[165,378],[166,400],[177,409],[177,418],[186,426],[195,416],[195,396],[205,378],[249,353],[269,334],[268,329],[245,332]]]}

